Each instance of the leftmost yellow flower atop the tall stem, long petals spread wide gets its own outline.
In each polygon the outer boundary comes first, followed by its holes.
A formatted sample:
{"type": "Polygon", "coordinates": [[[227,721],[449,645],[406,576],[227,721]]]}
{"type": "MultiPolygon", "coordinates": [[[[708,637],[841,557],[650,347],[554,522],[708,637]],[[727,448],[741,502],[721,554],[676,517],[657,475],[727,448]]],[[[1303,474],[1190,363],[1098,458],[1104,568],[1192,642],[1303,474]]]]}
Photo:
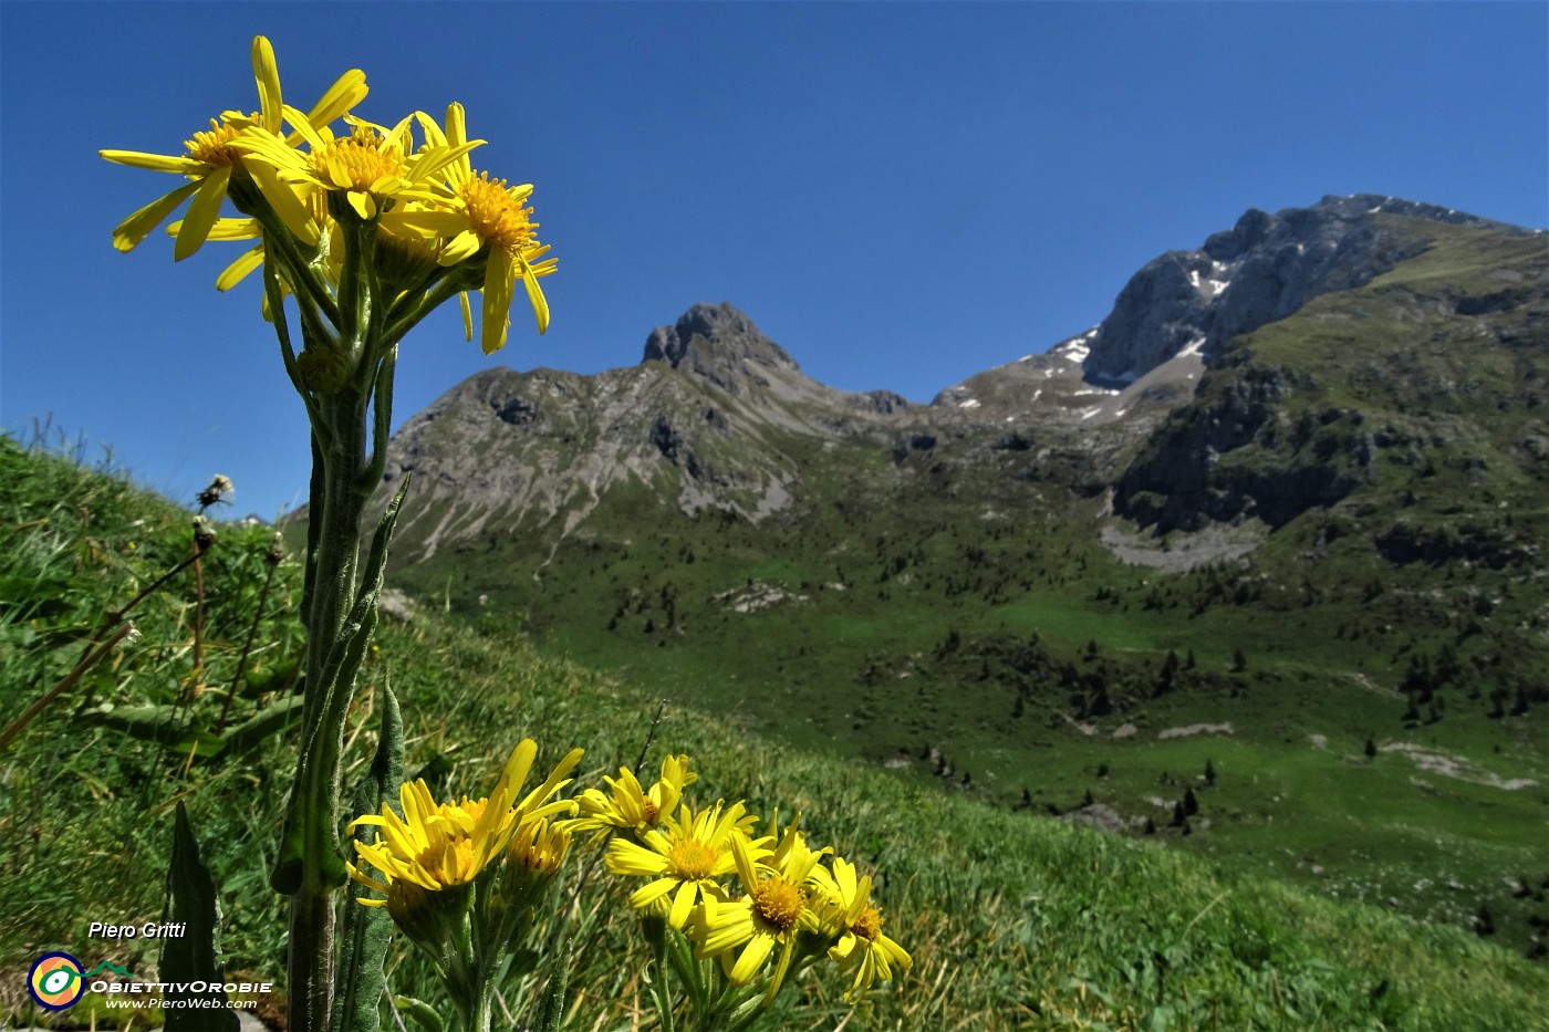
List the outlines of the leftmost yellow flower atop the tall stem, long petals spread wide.
{"type": "MultiPolygon", "coordinates": [[[[262,36],[252,40],[252,77],[259,85],[259,110],[243,115],[242,112],[223,112],[218,119],[209,121],[208,132],[194,133],[184,141],[181,155],[144,153],[139,150],[99,150],[104,158],[118,164],[129,164],[155,172],[172,172],[192,180],[186,186],[158,197],[113,229],[113,246],[119,251],[133,251],[152,229],[160,226],[178,205],[192,197],[187,215],[183,218],[177,234],[172,257],[178,262],[200,249],[209,239],[211,228],[220,217],[220,206],[226,200],[226,189],[231,184],[232,172],[243,167],[243,155],[232,147],[232,141],[245,130],[262,129],[279,133],[280,122],[290,112],[293,126],[314,129],[325,126],[335,118],[361,102],[366,96],[366,73],[359,68],[345,71],[328,87],[328,91],[302,115],[294,108],[287,108],[280,101],[280,76],[274,64],[274,48],[262,36]]],[[[313,232],[313,239],[316,239],[313,232]]]]}

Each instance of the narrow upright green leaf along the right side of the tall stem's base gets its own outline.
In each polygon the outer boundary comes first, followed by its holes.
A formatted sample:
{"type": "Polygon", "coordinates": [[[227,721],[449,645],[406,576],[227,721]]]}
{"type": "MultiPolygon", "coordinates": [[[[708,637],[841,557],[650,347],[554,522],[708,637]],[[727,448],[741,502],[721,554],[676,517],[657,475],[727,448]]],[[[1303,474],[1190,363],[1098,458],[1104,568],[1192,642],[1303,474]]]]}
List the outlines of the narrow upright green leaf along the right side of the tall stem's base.
{"type": "MultiPolygon", "coordinates": [[[[361,778],[352,798],[352,814],[376,814],[383,801],[397,795],[403,783],[403,716],[392,688],[383,688],[383,727],[376,756],[361,778]]],[[[355,838],[364,845],[376,840],[370,824],[356,829],[355,838]]],[[[381,899],[381,893],[356,886],[356,894],[381,899]]],[[[350,891],[345,891],[350,896],[350,891]]],[[[376,1032],[381,1024],[381,996],[387,987],[383,967],[392,942],[392,917],[386,906],[361,906],[353,899],[344,903],[339,922],[339,965],[333,993],[330,1027],[338,1032],[376,1032]]]]}

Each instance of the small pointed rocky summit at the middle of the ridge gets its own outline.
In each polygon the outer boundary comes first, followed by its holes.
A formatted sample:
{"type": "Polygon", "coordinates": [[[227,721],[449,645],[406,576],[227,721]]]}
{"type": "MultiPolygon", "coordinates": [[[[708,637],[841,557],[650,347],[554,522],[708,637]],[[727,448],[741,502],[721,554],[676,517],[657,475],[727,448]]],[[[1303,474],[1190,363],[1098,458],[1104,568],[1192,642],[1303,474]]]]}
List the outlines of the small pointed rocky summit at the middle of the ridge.
{"type": "Polygon", "coordinates": [[[665,361],[674,369],[686,369],[728,394],[740,394],[750,380],[767,383],[770,372],[798,370],[785,349],[726,302],[699,302],[674,325],[654,329],[646,338],[641,361],[665,361]]]}

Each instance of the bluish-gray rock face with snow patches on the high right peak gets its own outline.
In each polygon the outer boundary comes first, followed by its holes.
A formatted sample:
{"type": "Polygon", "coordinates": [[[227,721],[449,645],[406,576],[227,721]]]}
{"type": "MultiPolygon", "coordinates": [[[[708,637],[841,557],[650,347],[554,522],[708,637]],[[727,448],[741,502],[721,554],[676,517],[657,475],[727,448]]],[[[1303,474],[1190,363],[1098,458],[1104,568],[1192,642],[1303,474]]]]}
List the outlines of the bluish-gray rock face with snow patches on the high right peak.
{"type": "Polygon", "coordinates": [[[1168,251],[1120,291],[1090,339],[1084,378],[1123,386],[1180,353],[1214,358],[1238,335],[1335,290],[1362,287],[1414,257],[1383,215],[1526,232],[1393,197],[1324,197],[1276,214],[1252,209],[1197,251],[1168,251]]]}

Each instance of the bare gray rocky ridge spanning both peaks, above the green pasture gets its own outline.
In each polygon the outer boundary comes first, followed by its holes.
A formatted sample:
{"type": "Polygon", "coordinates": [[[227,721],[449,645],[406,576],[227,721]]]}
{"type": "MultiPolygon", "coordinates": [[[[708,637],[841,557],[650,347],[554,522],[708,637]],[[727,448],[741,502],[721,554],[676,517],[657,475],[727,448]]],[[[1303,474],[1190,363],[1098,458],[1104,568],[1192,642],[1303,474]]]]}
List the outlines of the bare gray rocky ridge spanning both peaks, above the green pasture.
{"type": "MultiPolygon", "coordinates": [[[[1358,446],[1338,451],[1340,463],[1290,456],[1279,471],[1239,471],[1227,490],[1213,473],[1219,456],[1278,440],[1298,387],[1281,369],[1258,369],[1227,386],[1218,378],[1197,404],[1196,395],[1235,341],[1414,259],[1439,232],[1425,226],[1532,232],[1365,195],[1250,211],[1199,251],[1140,270],[1100,325],[929,406],[816,383],[742,311],[696,304],[647,335],[638,366],[595,377],[489,370],[414,417],[389,454],[389,480],[420,479],[400,555],[516,528],[558,541],[621,488],[689,514],[795,518],[830,490],[812,488],[815,463],[832,487],[853,480],[844,463],[875,471],[875,460],[898,490],[982,470],[1081,497],[1117,487],[1117,511],[1149,525],[1197,528],[1244,513],[1278,525],[1345,497],[1371,457],[1358,446]],[[1204,406],[1193,421],[1169,418],[1191,404],[1204,406]]],[[[1513,280],[1456,304],[1484,318],[1537,290],[1513,280]]]]}

